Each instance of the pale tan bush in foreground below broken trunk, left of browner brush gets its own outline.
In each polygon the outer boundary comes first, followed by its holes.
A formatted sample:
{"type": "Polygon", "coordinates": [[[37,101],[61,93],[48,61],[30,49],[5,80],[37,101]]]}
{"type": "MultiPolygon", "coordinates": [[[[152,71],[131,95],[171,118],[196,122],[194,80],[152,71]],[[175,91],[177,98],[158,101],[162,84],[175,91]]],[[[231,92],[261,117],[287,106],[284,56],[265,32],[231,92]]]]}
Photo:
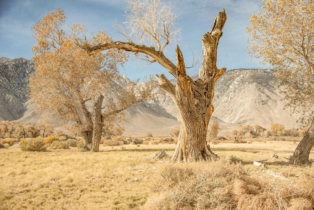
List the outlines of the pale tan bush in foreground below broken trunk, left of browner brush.
{"type": "Polygon", "coordinates": [[[226,161],[164,164],[144,208],[234,209],[233,180],[240,176],[247,176],[241,165],[226,161]]]}

